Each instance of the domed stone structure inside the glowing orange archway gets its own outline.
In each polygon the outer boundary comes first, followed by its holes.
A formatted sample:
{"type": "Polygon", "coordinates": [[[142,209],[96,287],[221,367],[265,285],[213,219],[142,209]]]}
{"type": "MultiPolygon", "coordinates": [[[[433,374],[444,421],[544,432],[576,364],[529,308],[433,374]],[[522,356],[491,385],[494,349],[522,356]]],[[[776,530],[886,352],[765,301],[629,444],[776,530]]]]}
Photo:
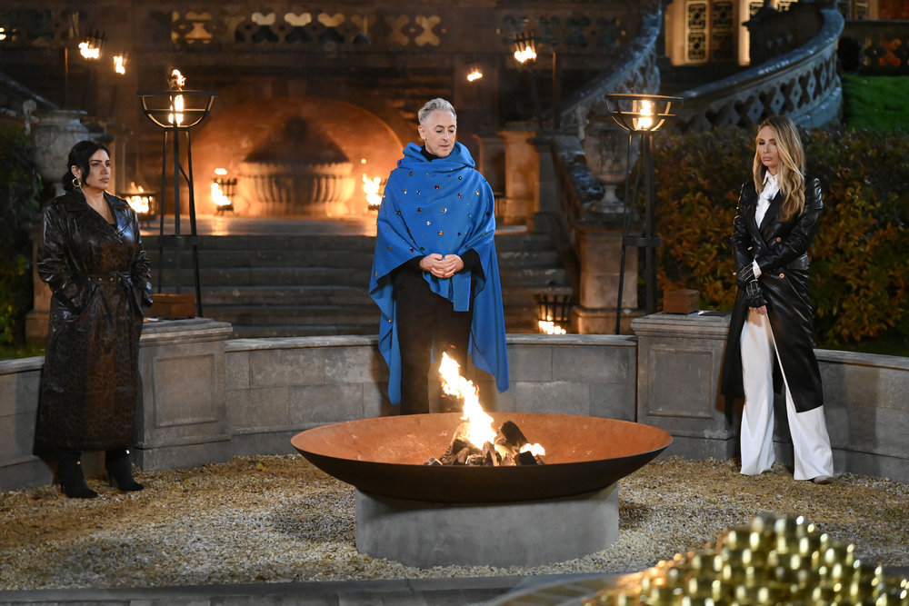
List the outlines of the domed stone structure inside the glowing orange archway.
{"type": "Polygon", "coordinates": [[[240,164],[238,188],[253,214],[346,214],[354,194],[353,164],[327,135],[291,118],[240,164]]]}

